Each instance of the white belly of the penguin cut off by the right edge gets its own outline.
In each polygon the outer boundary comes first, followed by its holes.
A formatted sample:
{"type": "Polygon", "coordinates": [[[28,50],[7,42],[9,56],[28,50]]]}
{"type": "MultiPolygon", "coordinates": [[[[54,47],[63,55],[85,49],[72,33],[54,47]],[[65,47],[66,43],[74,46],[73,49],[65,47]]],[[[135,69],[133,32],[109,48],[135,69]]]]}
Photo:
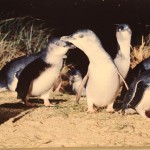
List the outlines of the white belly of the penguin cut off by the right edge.
{"type": "Polygon", "coordinates": [[[150,110],[150,87],[148,87],[140,103],[135,107],[136,111],[140,114],[140,111],[150,110]]]}

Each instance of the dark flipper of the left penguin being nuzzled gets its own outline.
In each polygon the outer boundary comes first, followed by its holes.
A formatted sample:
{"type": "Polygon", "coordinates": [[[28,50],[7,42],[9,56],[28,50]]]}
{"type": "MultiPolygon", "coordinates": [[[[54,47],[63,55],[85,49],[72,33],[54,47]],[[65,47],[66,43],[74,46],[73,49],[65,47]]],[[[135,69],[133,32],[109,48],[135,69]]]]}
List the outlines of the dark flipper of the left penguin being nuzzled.
{"type": "Polygon", "coordinates": [[[31,82],[36,79],[45,68],[50,67],[50,64],[44,62],[42,58],[38,58],[28,64],[21,72],[17,84],[16,91],[18,98],[25,99],[27,96],[31,82]]]}

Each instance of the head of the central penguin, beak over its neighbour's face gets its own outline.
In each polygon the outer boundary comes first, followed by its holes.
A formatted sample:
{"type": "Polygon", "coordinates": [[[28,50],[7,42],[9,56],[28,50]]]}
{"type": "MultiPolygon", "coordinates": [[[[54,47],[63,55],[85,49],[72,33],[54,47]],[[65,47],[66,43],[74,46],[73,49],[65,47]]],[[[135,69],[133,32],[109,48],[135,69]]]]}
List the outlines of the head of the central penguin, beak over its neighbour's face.
{"type": "Polygon", "coordinates": [[[77,30],[70,36],[61,37],[61,40],[74,44],[82,51],[87,51],[89,48],[92,49],[97,46],[97,44],[99,46],[100,43],[96,34],[89,29],[77,30]]]}

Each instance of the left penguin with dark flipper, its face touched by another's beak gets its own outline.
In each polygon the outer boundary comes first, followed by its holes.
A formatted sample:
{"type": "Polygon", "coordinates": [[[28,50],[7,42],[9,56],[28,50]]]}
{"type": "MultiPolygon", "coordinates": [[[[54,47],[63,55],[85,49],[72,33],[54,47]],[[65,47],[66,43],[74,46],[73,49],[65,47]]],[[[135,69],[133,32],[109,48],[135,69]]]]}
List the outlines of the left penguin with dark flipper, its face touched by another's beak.
{"type": "Polygon", "coordinates": [[[54,38],[50,41],[46,54],[28,64],[21,72],[16,91],[26,106],[35,106],[28,100],[29,97],[39,96],[44,100],[45,106],[53,106],[48,98],[60,84],[60,70],[63,56],[74,48],[72,44],[54,38]]]}

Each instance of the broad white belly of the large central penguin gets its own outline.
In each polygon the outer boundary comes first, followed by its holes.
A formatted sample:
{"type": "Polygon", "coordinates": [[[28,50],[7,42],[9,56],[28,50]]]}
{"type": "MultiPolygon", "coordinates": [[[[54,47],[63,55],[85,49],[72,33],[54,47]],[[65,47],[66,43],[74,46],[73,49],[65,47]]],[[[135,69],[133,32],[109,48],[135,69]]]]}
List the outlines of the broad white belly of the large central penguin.
{"type": "Polygon", "coordinates": [[[92,101],[98,107],[109,105],[115,100],[118,88],[119,76],[112,64],[103,63],[89,68],[89,80],[86,87],[88,101],[92,101]]]}

